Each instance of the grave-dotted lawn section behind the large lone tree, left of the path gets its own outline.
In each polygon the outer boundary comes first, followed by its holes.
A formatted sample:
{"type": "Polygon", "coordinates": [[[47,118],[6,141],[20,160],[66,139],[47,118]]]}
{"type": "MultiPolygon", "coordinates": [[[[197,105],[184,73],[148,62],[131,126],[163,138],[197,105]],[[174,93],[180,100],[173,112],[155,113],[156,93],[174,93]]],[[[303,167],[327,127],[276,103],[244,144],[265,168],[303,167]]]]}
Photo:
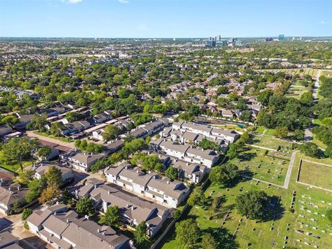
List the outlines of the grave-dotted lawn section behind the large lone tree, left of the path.
{"type": "Polygon", "coordinates": [[[284,184],[289,165],[286,158],[276,158],[271,152],[266,155],[266,150],[255,147],[248,147],[248,150],[241,152],[230,162],[240,170],[251,172],[254,178],[277,185],[284,184]]]}

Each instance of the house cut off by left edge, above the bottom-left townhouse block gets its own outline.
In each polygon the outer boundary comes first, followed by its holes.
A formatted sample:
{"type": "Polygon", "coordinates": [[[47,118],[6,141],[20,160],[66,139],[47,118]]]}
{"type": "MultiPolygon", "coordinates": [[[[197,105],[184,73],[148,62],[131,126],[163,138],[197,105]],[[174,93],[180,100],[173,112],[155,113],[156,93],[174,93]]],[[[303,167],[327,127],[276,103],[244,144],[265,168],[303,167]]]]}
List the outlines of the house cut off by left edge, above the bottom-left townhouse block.
{"type": "Polygon", "coordinates": [[[10,214],[15,202],[24,203],[28,189],[19,183],[13,183],[11,178],[0,178],[0,213],[10,214]]]}

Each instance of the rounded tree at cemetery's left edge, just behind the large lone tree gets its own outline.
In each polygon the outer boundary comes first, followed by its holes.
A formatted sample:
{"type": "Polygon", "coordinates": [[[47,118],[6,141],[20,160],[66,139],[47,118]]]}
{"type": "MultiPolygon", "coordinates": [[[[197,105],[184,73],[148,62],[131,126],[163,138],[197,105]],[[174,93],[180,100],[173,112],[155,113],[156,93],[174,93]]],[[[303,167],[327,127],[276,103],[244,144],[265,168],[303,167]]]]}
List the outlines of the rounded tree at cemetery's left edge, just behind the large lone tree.
{"type": "Polygon", "coordinates": [[[225,186],[232,183],[237,176],[239,176],[239,168],[236,165],[227,163],[212,168],[209,178],[212,183],[225,186]]]}

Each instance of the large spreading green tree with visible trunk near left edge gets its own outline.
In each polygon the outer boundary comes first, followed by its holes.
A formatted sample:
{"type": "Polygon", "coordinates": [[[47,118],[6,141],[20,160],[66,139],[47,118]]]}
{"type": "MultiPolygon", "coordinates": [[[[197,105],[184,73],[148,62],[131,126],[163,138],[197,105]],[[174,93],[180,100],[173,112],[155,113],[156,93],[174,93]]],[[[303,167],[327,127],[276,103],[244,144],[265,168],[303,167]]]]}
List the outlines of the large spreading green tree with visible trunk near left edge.
{"type": "Polygon", "coordinates": [[[23,160],[29,158],[32,147],[28,138],[12,138],[2,147],[7,160],[15,160],[23,171],[23,160]]]}

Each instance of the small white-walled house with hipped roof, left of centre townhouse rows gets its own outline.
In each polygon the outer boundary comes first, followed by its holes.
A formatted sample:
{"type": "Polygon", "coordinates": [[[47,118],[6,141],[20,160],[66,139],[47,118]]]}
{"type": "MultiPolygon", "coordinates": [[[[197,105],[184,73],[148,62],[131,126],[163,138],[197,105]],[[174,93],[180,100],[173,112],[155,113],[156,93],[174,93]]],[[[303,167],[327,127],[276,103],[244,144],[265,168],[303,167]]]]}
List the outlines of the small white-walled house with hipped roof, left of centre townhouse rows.
{"type": "Polygon", "coordinates": [[[91,154],[91,153],[77,153],[75,156],[69,158],[71,165],[82,172],[88,172],[92,165],[102,158],[101,154],[91,154]]]}

